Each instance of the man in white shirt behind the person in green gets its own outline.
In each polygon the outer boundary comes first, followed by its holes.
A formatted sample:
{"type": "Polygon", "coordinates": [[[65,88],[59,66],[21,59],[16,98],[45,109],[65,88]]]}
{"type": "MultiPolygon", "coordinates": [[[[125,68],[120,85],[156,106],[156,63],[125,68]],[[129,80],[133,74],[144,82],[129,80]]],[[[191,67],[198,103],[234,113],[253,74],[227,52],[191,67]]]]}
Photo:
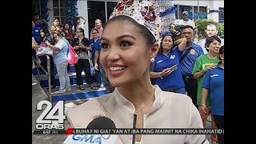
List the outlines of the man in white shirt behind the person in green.
{"type": "MultiPolygon", "coordinates": [[[[217,26],[215,26],[214,24],[210,24],[208,26],[206,26],[206,38],[211,37],[211,36],[218,36],[218,30],[217,30],[217,26]]],[[[203,53],[207,54],[208,51],[206,50],[206,38],[202,39],[201,42],[198,43],[198,45],[200,45],[202,47],[203,53]]],[[[220,38],[218,36],[218,38],[220,38]]],[[[222,43],[221,45],[224,46],[224,39],[220,38],[222,43]]]]}

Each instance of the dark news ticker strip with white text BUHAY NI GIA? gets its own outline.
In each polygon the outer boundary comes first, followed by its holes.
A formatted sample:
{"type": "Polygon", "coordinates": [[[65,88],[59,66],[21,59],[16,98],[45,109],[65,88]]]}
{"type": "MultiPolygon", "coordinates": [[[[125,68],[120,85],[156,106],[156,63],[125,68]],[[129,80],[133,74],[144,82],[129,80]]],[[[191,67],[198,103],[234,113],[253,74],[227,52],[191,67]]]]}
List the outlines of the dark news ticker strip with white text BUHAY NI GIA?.
{"type": "Polygon", "coordinates": [[[224,129],[68,129],[34,130],[33,134],[224,134],[224,129]]]}

